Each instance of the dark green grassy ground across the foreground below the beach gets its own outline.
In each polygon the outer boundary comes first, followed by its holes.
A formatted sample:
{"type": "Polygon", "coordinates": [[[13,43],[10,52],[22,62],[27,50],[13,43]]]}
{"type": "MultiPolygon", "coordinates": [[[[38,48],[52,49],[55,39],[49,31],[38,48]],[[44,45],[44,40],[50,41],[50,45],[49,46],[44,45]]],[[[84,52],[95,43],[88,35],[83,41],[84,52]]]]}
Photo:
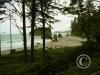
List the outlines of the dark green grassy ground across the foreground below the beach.
{"type": "MultiPolygon", "coordinates": [[[[28,51],[28,64],[24,64],[23,51],[0,57],[0,75],[91,75],[100,71],[100,53],[85,51],[93,49],[87,47],[66,47],[46,50],[45,59],[42,50],[35,50],[35,61],[30,63],[28,51]],[[88,69],[82,70],[76,65],[78,55],[86,53],[91,57],[92,63],[88,69]]],[[[95,49],[95,48],[94,48],[95,49]]]]}

